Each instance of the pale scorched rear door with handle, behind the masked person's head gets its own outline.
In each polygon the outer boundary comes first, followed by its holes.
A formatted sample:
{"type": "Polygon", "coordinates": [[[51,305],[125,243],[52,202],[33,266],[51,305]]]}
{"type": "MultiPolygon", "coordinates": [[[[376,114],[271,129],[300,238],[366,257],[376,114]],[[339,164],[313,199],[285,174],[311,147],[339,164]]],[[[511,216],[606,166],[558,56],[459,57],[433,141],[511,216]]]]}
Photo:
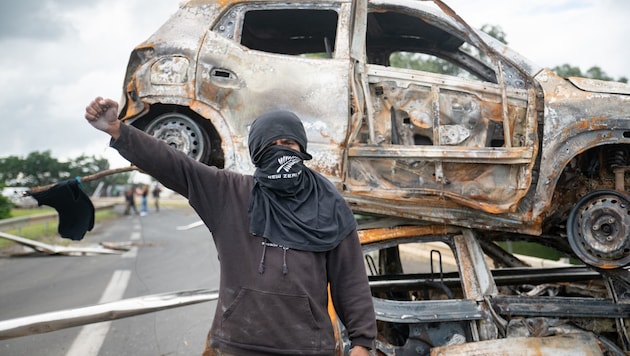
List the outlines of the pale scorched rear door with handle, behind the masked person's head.
{"type": "Polygon", "coordinates": [[[350,3],[242,3],[208,32],[197,97],[216,107],[246,149],[253,118],[295,112],[309,139],[310,164],[339,181],[349,115],[350,3]]]}

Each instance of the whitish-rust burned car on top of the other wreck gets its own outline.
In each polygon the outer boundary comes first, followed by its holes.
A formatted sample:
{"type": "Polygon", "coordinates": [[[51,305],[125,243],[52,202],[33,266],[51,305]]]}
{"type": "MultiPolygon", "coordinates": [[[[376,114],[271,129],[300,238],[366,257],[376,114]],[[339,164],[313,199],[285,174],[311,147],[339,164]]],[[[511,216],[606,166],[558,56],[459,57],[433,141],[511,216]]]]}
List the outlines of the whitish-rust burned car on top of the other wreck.
{"type": "Polygon", "coordinates": [[[433,3],[190,1],[131,54],[120,118],[251,172],[250,122],[289,109],[357,213],[564,235],[586,263],[627,265],[630,86],[558,77],[433,3]]]}

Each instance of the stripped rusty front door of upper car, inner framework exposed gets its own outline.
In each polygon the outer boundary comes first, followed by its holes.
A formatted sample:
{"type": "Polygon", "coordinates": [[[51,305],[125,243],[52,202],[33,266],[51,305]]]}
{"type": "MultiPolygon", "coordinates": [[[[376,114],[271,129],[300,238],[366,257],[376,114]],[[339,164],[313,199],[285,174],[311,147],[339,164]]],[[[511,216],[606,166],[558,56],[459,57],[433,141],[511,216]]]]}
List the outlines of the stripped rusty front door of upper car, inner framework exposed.
{"type": "Polygon", "coordinates": [[[373,3],[355,19],[366,109],[352,128],[346,195],[358,210],[435,221],[461,219],[461,207],[515,212],[537,153],[534,87],[461,24],[417,6],[373,3]],[[438,70],[396,68],[401,58],[438,70]]]}

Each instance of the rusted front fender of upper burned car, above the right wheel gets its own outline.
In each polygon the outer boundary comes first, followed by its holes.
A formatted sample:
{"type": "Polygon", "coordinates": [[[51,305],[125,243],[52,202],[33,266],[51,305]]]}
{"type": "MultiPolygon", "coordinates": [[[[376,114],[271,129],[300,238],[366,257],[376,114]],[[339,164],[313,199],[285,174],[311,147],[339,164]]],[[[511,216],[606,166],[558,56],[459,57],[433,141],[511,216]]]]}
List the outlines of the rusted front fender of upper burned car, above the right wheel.
{"type": "MultiPolygon", "coordinates": [[[[570,82],[550,71],[541,72],[537,80],[545,93],[545,154],[541,160],[541,183],[537,185],[534,215],[542,214],[551,207],[551,197],[557,188],[561,192],[558,196],[574,197],[573,201],[576,200],[575,187],[557,185],[563,173],[562,168],[571,169],[570,162],[576,155],[597,146],[630,142],[630,96],[607,93],[630,91],[629,86],[622,83],[574,80],[582,83],[585,88],[586,83],[589,83],[588,87],[598,89],[599,92],[576,90],[570,82]]],[[[567,172],[571,175],[576,173],[581,175],[574,170],[567,172]]],[[[630,176],[625,180],[625,186],[630,186],[630,176]]],[[[597,182],[590,181],[590,184],[597,182]]],[[[614,183],[604,185],[605,181],[600,184],[595,189],[614,187],[614,183]]],[[[582,189],[585,188],[579,187],[577,193],[584,195],[586,190],[582,189]]],[[[624,191],[627,192],[626,189],[624,191]]]]}

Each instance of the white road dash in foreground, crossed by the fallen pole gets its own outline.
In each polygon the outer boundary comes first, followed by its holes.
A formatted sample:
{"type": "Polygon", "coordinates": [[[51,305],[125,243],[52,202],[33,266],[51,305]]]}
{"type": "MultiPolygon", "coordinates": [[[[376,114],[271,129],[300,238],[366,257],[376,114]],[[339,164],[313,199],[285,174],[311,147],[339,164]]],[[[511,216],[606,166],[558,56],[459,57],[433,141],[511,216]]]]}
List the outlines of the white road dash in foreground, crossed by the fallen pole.
{"type": "MultiPolygon", "coordinates": [[[[99,303],[112,302],[122,299],[130,278],[131,271],[116,270],[112,279],[109,281],[107,288],[105,288],[99,303]]],[[[77,335],[77,338],[74,339],[74,342],[72,343],[72,346],[70,346],[66,356],[98,355],[99,350],[103,346],[103,341],[105,341],[110,325],[111,321],[105,321],[84,326],[79,335],[77,335]]]]}

